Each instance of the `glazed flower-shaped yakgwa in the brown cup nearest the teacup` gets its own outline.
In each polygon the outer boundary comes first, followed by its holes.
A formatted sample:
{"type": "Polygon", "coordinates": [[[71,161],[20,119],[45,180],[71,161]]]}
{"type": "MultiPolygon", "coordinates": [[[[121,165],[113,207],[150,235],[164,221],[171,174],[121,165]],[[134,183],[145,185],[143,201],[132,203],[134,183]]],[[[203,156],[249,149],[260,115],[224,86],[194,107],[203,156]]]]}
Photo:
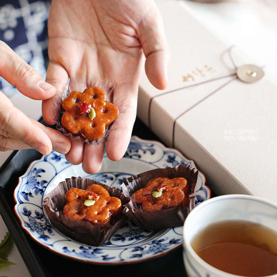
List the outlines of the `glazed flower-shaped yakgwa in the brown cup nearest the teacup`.
{"type": "Polygon", "coordinates": [[[132,198],[143,211],[159,211],[187,204],[188,190],[189,185],[183,177],[158,177],[136,191],[132,198]]]}

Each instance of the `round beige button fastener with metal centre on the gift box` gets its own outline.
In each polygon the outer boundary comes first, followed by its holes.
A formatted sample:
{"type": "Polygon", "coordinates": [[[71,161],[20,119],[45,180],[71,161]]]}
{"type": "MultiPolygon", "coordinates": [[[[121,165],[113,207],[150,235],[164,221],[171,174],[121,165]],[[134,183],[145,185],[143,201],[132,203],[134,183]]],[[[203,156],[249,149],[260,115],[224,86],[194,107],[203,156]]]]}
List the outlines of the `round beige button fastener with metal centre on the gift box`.
{"type": "Polygon", "coordinates": [[[264,72],[259,66],[246,64],[237,68],[237,76],[243,82],[254,83],[263,78],[264,72]]]}

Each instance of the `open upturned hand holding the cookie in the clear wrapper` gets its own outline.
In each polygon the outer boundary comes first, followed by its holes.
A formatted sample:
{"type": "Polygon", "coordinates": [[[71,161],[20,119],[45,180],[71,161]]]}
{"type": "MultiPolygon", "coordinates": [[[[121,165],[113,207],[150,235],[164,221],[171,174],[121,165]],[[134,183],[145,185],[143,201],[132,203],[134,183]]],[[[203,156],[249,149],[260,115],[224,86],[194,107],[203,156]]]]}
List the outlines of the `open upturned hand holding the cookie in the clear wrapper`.
{"type": "MultiPolygon", "coordinates": [[[[114,82],[126,98],[126,114],[109,135],[106,153],[118,160],[125,154],[136,118],[139,75],[143,53],[150,82],[167,86],[167,48],[163,24],[153,0],[53,0],[48,20],[49,58],[46,81],[62,91],[70,83],[98,77],[114,82]]],[[[53,124],[49,111],[53,99],[43,101],[42,114],[53,124]]],[[[120,102],[114,93],[113,102],[120,102]]],[[[99,171],[105,150],[100,145],[71,141],[66,159],[82,162],[87,173],[99,171]]]]}

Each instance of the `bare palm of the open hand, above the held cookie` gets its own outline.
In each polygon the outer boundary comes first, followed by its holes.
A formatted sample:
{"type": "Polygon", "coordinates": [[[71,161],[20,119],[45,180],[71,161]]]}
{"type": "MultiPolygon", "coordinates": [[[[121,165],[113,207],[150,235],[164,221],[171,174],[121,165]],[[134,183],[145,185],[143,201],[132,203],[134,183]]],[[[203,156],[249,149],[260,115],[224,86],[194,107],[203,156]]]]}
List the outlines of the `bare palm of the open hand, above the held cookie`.
{"type": "Polygon", "coordinates": [[[118,89],[127,84],[135,87],[142,55],[136,34],[139,22],[132,22],[129,16],[134,12],[128,11],[132,7],[130,2],[125,9],[118,10],[110,6],[113,1],[107,2],[109,6],[103,2],[94,1],[92,5],[90,1],[82,1],[84,9],[78,8],[78,1],[70,3],[70,7],[63,1],[52,6],[49,15],[50,61],[61,63],[72,82],[76,78],[98,76],[114,82],[118,89]],[[56,14],[59,16],[55,17],[56,14]]]}

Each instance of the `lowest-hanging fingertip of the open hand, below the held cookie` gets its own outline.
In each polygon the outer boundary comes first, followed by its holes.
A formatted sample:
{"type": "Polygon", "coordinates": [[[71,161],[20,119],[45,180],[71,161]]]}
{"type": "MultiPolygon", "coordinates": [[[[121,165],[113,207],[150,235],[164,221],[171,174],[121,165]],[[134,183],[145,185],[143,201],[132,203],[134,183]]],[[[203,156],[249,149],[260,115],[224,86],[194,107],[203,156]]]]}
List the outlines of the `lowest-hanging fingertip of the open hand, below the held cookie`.
{"type": "Polygon", "coordinates": [[[106,139],[103,138],[99,145],[85,144],[82,168],[86,173],[95,174],[101,169],[105,152],[105,141],[106,139]]]}

